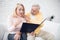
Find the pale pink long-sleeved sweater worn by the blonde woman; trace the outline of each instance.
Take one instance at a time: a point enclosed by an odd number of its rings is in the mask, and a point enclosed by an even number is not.
[[[9,32],[10,33],[16,33],[16,31],[20,31],[23,22],[26,22],[25,18],[11,17],[10,18],[10,26],[8,27]]]

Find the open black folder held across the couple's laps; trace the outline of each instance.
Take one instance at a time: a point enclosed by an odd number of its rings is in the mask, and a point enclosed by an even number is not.
[[[22,33],[30,33],[33,32],[37,27],[39,27],[46,19],[44,19],[40,24],[33,23],[23,23],[20,32]]]

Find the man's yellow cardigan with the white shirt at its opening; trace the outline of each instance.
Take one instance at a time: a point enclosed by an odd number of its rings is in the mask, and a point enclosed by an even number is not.
[[[43,16],[42,16],[42,14],[41,14],[40,12],[37,13],[36,15],[34,15],[34,17],[33,17],[33,15],[32,15],[31,13],[27,13],[26,16],[28,16],[28,17],[30,18],[30,22],[29,22],[29,23],[40,24],[41,21],[43,20]],[[42,26],[43,26],[43,24],[40,25],[40,26],[34,31],[34,33],[35,33],[35,34],[39,34]]]

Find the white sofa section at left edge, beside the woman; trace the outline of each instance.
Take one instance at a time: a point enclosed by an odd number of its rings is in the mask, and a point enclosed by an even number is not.
[[[7,26],[0,24],[0,40],[7,40]]]

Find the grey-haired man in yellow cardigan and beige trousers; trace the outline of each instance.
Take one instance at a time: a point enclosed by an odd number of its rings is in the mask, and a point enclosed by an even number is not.
[[[39,11],[39,5],[32,5],[31,12],[26,15],[29,17],[29,23],[40,24],[43,20],[42,13]],[[43,24],[41,24],[34,32],[27,34],[27,40],[35,40],[35,37],[41,37],[44,40],[54,40],[52,34],[41,30]]]

